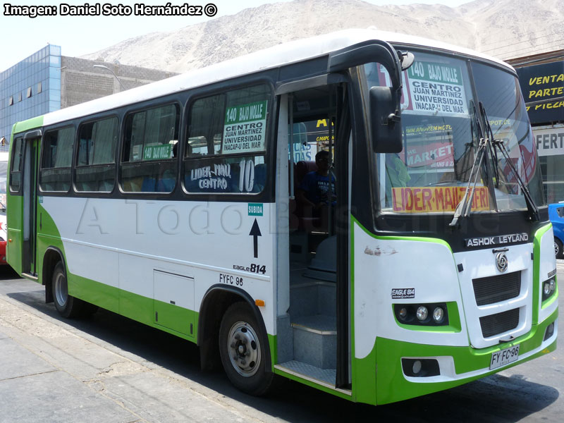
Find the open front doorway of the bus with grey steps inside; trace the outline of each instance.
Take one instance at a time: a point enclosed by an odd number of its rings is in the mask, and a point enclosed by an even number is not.
[[[348,83],[340,76],[331,79],[314,87],[301,85],[300,90],[288,84],[277,93],[281,189],[276,199],[280,236],[275,368],[350,392],[350,110]],[[311,128],[317,129],[312,133]],[[283,142],[286,137],[288,142]],[[317,160],[321,150],[324,154]],[[321,163],[329,188],[324,207],[313,210],[298,190],[305,175]]]

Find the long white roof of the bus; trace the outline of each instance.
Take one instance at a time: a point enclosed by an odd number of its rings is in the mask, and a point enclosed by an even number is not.
[[[275,47],[255,51],[245,56],[216,63],[206,68],[195,69],[176,75],[165,80],[152,82],[131,90],[118,92],[107,97],[92,100],[71,106],[66,109],[54,111],[44,116],[43,125],[51,125],[73,118],[88,116],[106,110],[115,109],[120,106],[142,102],[148,99],[164,96],[173,92],[188,90],[192,87],[207,85],[212,82],[248,75],[269,68],[277,68],[289,63],[299,62],[305,59],[324,56],[331,51],[343,49],[353,44],[369,41],[371,39],[382,39],[392,44],[412,45],[413,47],[429,47],[446,51],[455,51],[460,54],[474,56],[480,59],[494,61],[508,69],[513,69],[507,63],[498,59],[485,56],[470,49],[455,47],[431,39],[413,37],[410,35],[397,34],[394,32],[383,32],[376,30],[342,30],[331,32],[318,37],[299,39],[293,42],[278,44]],[[19,129],[19,128],[18,128]]]

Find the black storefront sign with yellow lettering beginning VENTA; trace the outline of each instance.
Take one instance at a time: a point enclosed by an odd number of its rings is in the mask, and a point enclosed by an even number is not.
[[[564,61],[517,68],[532,124],[564,121]]]

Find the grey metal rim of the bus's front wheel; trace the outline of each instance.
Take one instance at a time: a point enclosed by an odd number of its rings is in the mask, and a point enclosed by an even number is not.
[[[229,330],[228,354],[233,368],[241,376],[257,373],[260,364],[259,337],[245,321],[238,321]]]

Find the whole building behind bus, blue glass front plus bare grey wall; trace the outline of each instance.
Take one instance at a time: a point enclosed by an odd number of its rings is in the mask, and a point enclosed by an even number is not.
[[[61,56],[61,47],[48,44],[0,73],[0,151],[7,151],[18,121],[172,75],[176,73]]]

